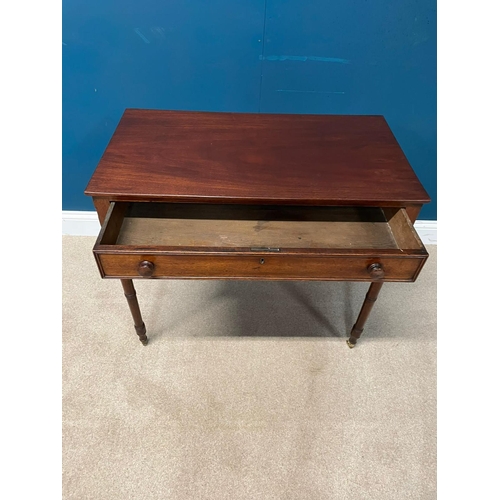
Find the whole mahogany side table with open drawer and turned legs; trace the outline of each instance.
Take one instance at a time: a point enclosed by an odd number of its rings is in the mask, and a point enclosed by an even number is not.
[[[125,110],[85,194],[103,278],[370,282],[354,347],[386,281],[428,254],[430,198],[382,116]]]

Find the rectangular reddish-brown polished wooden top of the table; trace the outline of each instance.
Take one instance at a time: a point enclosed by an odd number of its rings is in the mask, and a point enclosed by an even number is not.
[[[85,194],[298,205],[430,201],[382,116],[127,109]]]

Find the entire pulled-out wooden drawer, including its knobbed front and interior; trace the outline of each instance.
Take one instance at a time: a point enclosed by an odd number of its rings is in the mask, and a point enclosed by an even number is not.
[[[112,202],[103,278],[415,281],[427,252],[404,208]]]

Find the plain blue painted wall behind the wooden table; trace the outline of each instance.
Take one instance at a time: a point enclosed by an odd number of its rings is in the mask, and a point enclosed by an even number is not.
[[[382,114],[436,219],[435,0],[65,0],[63,209],[127,107]]]

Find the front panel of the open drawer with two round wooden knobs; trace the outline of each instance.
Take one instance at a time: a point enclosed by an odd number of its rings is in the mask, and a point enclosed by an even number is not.
[[[426,256],[100,254],[103,278],[415,281]],[[380,264],[378,273],[370,266]],[[373,273],[373,267],[372,267]]]

